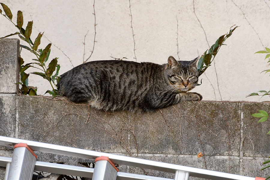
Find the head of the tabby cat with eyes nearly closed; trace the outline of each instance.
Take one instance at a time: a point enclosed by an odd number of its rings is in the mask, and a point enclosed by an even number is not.
[[[199,73],[197,59],[192,61],[176,61],[173,56],[168,58],[165,76],[169,81],[168,89],[173,92],[187,92],[198,85]]]

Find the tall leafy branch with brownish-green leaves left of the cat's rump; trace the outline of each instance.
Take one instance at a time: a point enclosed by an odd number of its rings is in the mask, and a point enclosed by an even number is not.
[[[22,11],[18,11],[17,13],[17,24],[12,21],[12,13],[10,9],[3,3],[0,3],[3,7],[5,14],[2,14],[2,10],[0,9],[0,14],[6,17],[13,25],[19,30],[19,32],[15,32],[13,34],[7,35],[3,38],[7,38],[13,35],[19,35],[19,38],[25,41],[29,46],[20,45],[22,48],[29,50],[33,54],[35,54],[36,58],[32,59],[33,62],[23,65],[24,61],[22,58],[19,59],[20,64],[20,81],[19,84],[22,85],[21,92],[22,94],[36,95],[36,88],[28,87],[28,76],[29,74],[25,73],[25,70],[29,67],[36,68],[41,72],[32,72],[32,74],[39,75],[44,79],[48,80],[50,85],[52,86],[52,91],[47,90],[46,93],[49,93],[53,96],[58,95],[58,90],[56,88],[56,84],[59,81],[58,71],[60,69],[60,65],[57,64],[58,58],[53,58],[48,67],[46,67],[45,63],[48,61],[49,54],[51,51],[51,44],[48,44],[45,49],[38,49],[38,46],[41,43],[41,37],[43,33],[39,33],[38,37],[35,39],[34,43],[32,42],[30,36],[32,33],[33,21],[29,21],[26,29],[22,28],[23,26],[23,15]],[[35,65],[35,66],[34,66]],[[36,67],[37,66],[37,67]],[[55,74],[53,75],[55,71]]]

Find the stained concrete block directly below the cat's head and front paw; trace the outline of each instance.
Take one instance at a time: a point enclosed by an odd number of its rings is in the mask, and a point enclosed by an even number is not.
[[[151,116],[131,116],[131,125],[134,126],[140,145],[138,150],[140,153],[197,155],[204,149],[205,155],[230,153],[237,156],[239,108],[240,103],[182,102],[162,112],[152,113]],[[147,132],[141,131],[144,127],[147,127]],[[132,148],[136,152],[136,147]]]

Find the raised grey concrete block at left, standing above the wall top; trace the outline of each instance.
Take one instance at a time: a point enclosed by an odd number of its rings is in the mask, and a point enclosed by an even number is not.
[[[18,39],[0,39],[0,93],[17,93],[19,44]]]

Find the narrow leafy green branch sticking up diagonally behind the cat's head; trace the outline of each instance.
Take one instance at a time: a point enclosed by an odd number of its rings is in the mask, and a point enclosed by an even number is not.
[[[235,25],[234,25],[235,26]],[[232,26],[233,27],[233,26]],[[231,28],[232,28],[231,27]],[[198,61],[198,65],[197,65],[197,70],[199,71],[199,76],[202,75],[202,73],[204,73],[204,71],[211,66],[211,62],[214,60],[215,56],[217,55],[217,52],[219,50],[219,48],[222,45],[226,45],[223,44],[224,41],[229,38],[232,35],[232,32],[237,28],[238,26],[235,26],[233,29],[230,29],[228,34],[222,35],[220,36],[217,41],[215,42],[215,44],[213,44],[211,46],[211,48],[208,50],[206,50],[203,55],[199,58]],[[208,51],[208,52],[207,52]]]

